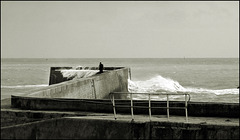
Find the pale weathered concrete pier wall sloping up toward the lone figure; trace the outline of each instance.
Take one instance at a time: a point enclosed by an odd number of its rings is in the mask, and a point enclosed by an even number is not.
[[[110,92],[128,91],[128,72],[129,68],[109,70],[88,78],[53,84],[27,93],[24,96],[37,98],[103,99],[107,98]],[[61,80],[58,79],[57,81]]]

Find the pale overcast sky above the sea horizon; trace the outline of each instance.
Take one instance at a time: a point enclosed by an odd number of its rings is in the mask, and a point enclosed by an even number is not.
[[[1,1],[1,58],[239,58],[239,1]]]

